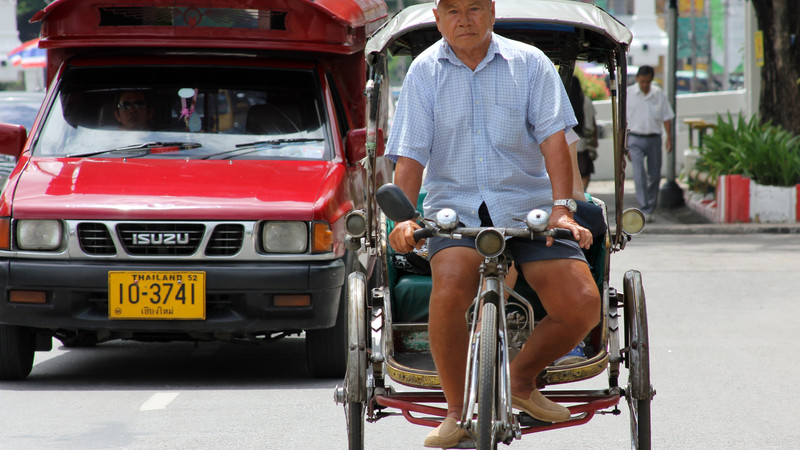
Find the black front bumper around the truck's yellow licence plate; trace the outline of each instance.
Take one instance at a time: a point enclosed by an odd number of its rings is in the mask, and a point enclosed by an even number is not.
[[[204,320],[119,320],[108,315],[109,271],[203,271]],[[0,260],[0,323],[39,329],[252,335],[330,328],[345,282],[343,260],[269,263],[130,263]],[[44,303],[10,293],[44,292]],[[276,306],[275,295],[309,295],[309,306]]]

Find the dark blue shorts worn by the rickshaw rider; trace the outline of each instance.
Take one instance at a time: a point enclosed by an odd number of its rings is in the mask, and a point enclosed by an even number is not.
[[[485,204],[481,205],[478,215],[480,216],[482,227],[493,226]],[[437,252],[449,247],[475,248],[475,238],[450,239],[439,236],[432,237],[428,239],[428,258],[432,259]],[[556,239],[553,245],[548,247],[547,241],[543,237],[535,239],[510,238],[506,240],[506,249],[511,252],[511,256],[517,264],[551,259],[577,259],[586,262],[586,256],[584,256],[580,245],[569,239]]]

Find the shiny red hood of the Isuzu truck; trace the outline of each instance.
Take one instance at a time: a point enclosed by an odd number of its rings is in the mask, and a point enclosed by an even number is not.
[[[330,161],[33,158],[19,174],[13,216],[326,219],[321,209],[330,209],[325,203],[331,194],[321,199],[320,192],[340,186],[343,172]]]

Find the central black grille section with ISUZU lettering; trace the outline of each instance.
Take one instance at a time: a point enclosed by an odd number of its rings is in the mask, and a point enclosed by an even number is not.
[[[117,235],[136,256],[187,256],[197,251],[205,225],[190,223],[120,223]]]

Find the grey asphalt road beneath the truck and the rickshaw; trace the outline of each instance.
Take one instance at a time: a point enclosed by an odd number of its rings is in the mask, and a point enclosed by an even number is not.
[[[627,269],[643,274],[654,448],[796,448],[795,236],[643,235],[612,257],[615,287]],[[0,383],[0,448],[343,449],[338,382],[309,376],[301,339],[86,349],[56,341],[37,354],[28,380]],[[567,387],[606,383],[602,374]],[[619,416],[528,435],[511,448],[629,448],[620,406]],[[367,448],[422,448],[427,432],[385,418],[366,425]]]

